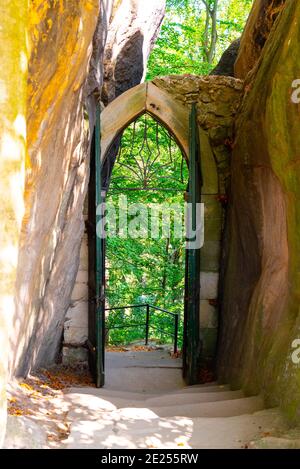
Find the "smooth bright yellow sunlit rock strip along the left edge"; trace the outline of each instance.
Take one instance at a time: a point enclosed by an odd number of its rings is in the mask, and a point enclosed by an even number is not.
[[[6,422],[8,329],[14,314],[26,157],[26,6],[1,2],[0,28],[0,447]]]

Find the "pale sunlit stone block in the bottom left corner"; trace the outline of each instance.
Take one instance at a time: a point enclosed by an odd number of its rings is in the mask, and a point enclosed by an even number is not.
[[[9,415],[4,448],[44,449],[47,445],[45,430],[27,417]]]

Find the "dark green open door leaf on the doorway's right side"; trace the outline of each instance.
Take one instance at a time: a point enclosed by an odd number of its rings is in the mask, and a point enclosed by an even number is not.
[[[188,225],[187,230],[185,299],[184,299],[184,341],[183,341],[183,377],[187,384],[199,382],[200,366],[200,246],[199,239],[199,205],[201,202],[201,161],[200,144],[197,124],[196,104],[192,105],[190,114],[190,145],[189,145],[189,186]],[[189,238],[193,233],[193,237]],[[192,233],[191,233],[192,232]]]

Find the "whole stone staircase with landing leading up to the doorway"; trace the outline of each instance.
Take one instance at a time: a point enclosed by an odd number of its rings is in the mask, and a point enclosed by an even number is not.
[[[106,386],[65,394],[63,448],[245,448],[285,425],[259,396],[217,383],[185,386],[166,351],[107,354]]]

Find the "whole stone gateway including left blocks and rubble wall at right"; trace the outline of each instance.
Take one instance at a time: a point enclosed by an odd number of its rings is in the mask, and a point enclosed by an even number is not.
[[[218,78],[217,84],[215,81],[210,83],[202,77],[193,76],[159,78],[123,93],[101,113],[102,159],[108,156],[114,141],[122,131],[144,113],[149,113],[171,131],[187,157],[189,112],[191,103],[197,102],[204,180],[202,201],[205,204],[205,244],[201,250],[199,280],[201,282],[200,318],[204,353],[209,358],[214,356],[217,340],[217,299],[224,219],[220,195],[223,193],[224,171],[225,174],[228,173],[229,162],[228,149],[223,142],[231,135],[232,115],[235,109],[232,107],[232,99],[234,97],[234,102],[237,102],[239,96],[236,84],[231,85],[228,92],[228,81],[224,78]],[[196,91],[193,91],[195,89]],[[88,264],[87,251],[87,238],[84,238],[81,265],[73,293],[75,308],[69,309],[65,324],[65,344],[68,347],[66,350],[69,353],[74,346],[76,357],[81,354],[78,345],[87,336],[87,285],[83,295],[83,283],[86,281],[83,278],[86,278]],[[78,300],[79,296],[83,298],[82,301]]]

